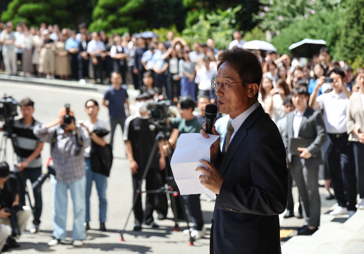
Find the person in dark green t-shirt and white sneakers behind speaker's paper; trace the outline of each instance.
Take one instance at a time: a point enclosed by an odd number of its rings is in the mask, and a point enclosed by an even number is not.
[[[177,102],[177,108],[180,111],[181,118],[170,118],[168,123],[172,129],[168,143],[170,147],[174,147],[177,138],[183,133],[199,133],[202,129],[198,119],[194,116],[193,109],[196,106],[194,100],[190,96],[181,96]],[[191,220],[195,224],[190,229],[184,231],[185,235],[198,240],[206,234],[206,228],[204,227],[204,219],[201,211],[200,194],[184,195],[183,196],[187,207],[189,209]]]

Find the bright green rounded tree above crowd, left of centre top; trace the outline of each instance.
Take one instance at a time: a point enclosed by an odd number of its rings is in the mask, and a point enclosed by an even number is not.
[[[134,18],[143,5],[144,0],[98,0],[92,12],[93,22],[89,30],[123,34],[144,29],[147,21]]]

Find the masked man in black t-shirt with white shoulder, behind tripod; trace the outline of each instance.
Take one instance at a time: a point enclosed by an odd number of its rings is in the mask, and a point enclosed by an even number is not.
[[[129,158],[129,166],[133,178],[133,195],[136,195],[138,182],[142,178],[150,152],[155,142],[157,129],[154,124],[149,122],[149,113],[146,101],[150,98],[147,93],[141,94],[135,98],[138,111],[125,121],[124,141],[126,152]],[[164,170],[166,167],[166,157],[163,152],[162,143],[158,144],[158,152],[156,151],[152,160],[152,164],[146,176],[146,190],[155,190],[155,176],[157,170]],[[158,158],[158,153],[160,154]],[[133,196],[134,198],[134,196]],[[158,225],[153,219],[153,210],[155,194],[147,194],[145,205],[145,224],[157,227]],[[138,196],[134,207],[135,225],[134,230],[141,230],[141,222],[143,222],[143,207],[141,206],[141,195]]]

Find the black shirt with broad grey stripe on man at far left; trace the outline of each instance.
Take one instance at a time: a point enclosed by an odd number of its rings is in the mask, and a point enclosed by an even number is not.
[[[38,143],[41,143],[34,134],[34,127],[40,124],[38,121],[33,119],[31,125],[25,125],[23,119],[16,120],[13,126],[13,133],[16,134],[16,142],[14,145],[15,152],[13,155],[14,165],[16,166],[19,162],[26,160],[37,148]],[[19,161],[20,160],[20,161]],[[35,169],[42,167],[42,158],[39,154],[31,163],[29,163],[27,169]]]

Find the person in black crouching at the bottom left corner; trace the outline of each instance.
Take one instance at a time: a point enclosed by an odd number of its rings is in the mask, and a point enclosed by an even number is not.
[[[9,225],[12,228],[12,235],[5,238],[5,226],[1,226],[0,229],[0,247],[4,246],[4,238],[6,240],[5,248],[19,247],[19,244],[15,241],[20,234],[23,233],[25,225],[31,214],[31,209],[28,206],[19,205],[19,193],[18,193],[18,180],[16,176],[10,174],[9,165],[7,163],[0,163],[0,223]],[[12,213],[15,212],[15,223],[11,223]],[[1,250],[1,249],[0,249]]]

